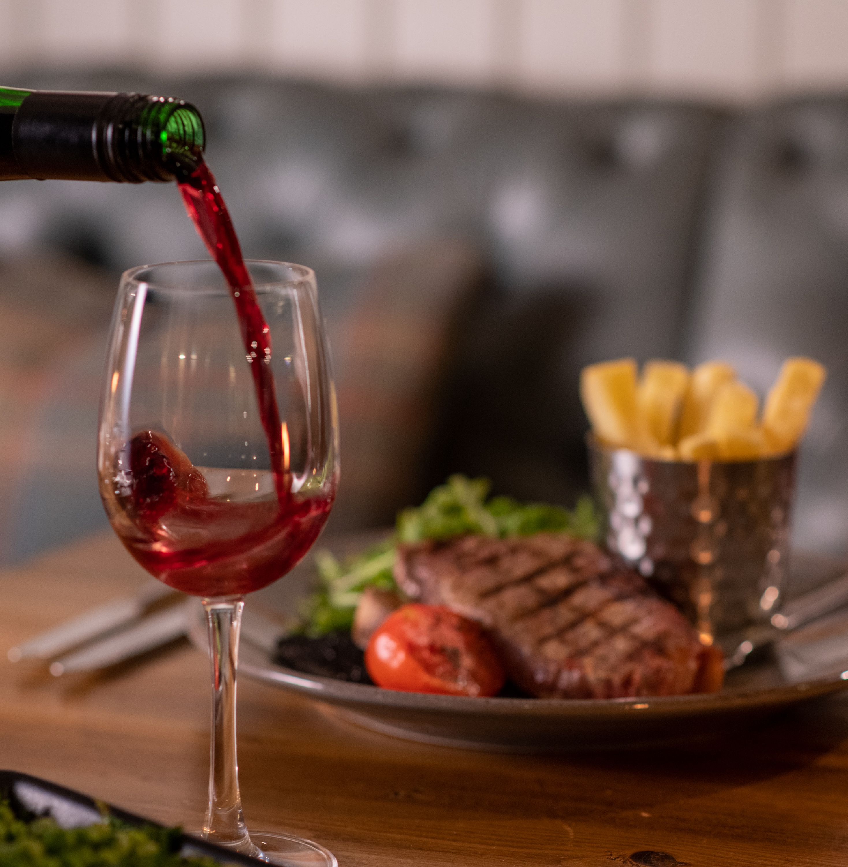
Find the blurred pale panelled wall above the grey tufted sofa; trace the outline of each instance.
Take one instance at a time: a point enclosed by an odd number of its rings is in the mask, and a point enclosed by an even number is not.
[[[0,0],[0,21],[0,71],[131,62],[722,100],[848,85],[848,0]]]

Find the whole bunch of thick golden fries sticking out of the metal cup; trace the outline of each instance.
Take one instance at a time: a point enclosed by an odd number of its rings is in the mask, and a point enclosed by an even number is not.
[[[580,400],[602,446],[656,460],[759,460],[798,447],[826,375],[811,358],[787,358],[760,409],[727,362],[689,370],[653,360],[639,375],[637,363],[622,358],[583,368]]]

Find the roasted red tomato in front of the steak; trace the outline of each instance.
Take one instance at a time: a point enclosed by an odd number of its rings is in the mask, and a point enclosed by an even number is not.
[[[441,605],[404,605],[371,636],[372,681],[407,693],[495,695],[506,679],[482,628]]]

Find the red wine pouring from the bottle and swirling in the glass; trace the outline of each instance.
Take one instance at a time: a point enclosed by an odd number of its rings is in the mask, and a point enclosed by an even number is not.
[[[291,490],[288,432],[277,407],[269,326],[209,167],[201,162],[179,181],[179,190],[235,302],[268,440],[275,497],[243,502],[212,497],[204,473],[172,440],[142,431],[129,443],[133,487],[120,505],[131,519],[115,529],[133,557],[172,587],[197,596],[243,594],[275,581],[306,554],[327,520],[333,492],[299,497]],[[239,472],[223,470],[227,482]]]

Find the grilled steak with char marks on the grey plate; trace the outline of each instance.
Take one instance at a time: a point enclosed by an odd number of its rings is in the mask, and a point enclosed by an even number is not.
[[[539,534],[399,545],[395,577],[407,596],[487,627],[529,694],[619,698],[721,686],[721,656],[591,542]]]

